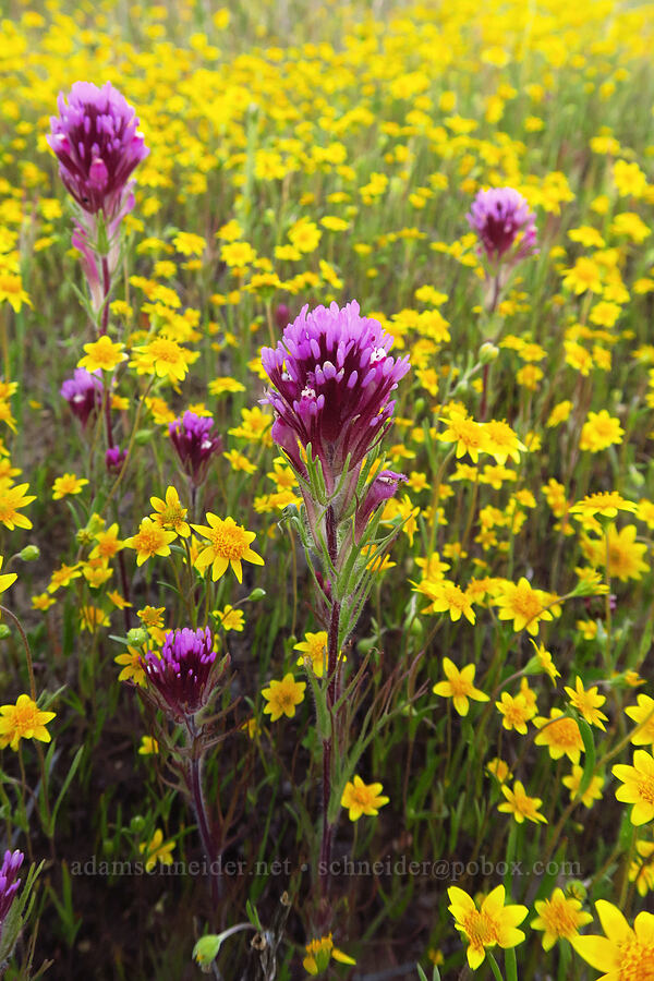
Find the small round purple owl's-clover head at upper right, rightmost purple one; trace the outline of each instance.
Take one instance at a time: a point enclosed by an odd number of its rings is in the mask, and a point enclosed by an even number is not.
[[[513,265],[537,251],[535,215],[513,187],[480,191],[465,217],[480,237],[480,253],[494,265]]]

